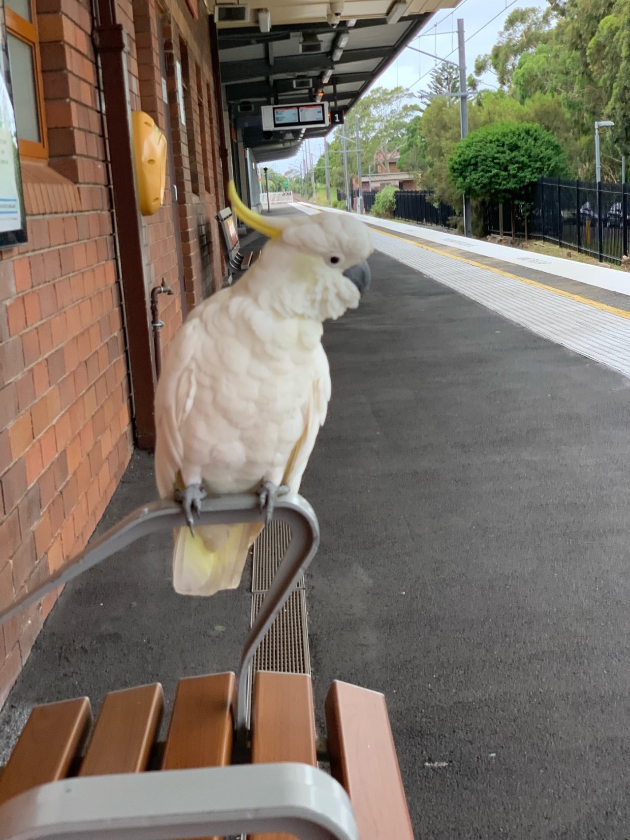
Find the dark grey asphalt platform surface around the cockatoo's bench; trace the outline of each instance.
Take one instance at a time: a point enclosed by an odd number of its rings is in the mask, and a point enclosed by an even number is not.
[[[448,258],[444,258],[448,259]],[[302,492],[313,678],[386,693],[417,837],[630,837],[630,382],[375,254],[328,324]],[[102,528],[155,497],[134,455]],[[66,587],[0,718],[234,669],[249,580],[208,601],[149,540]],[[369,838],[366,838],[369,840]],[[395,838],[392,837],[392,840]]]

